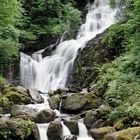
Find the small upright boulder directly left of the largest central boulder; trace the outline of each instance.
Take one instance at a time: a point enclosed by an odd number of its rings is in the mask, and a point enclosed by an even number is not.
[[[58,94],[51,96],[48,101],[51,109],[58,109],[61,102],[61,96]]]

